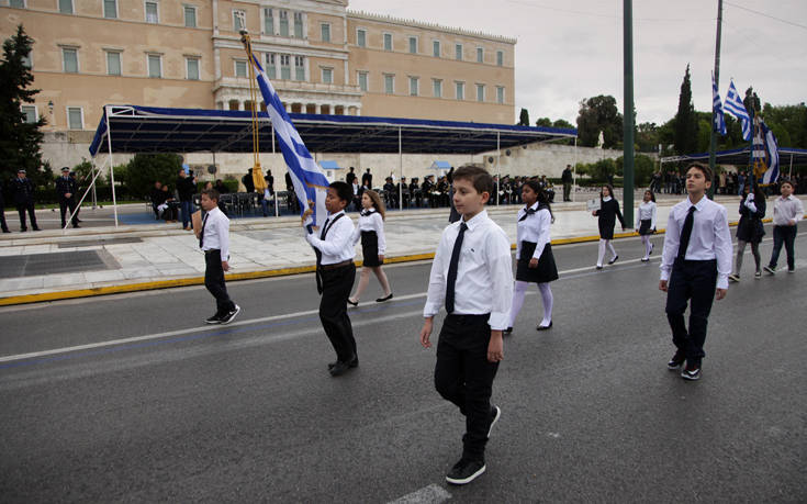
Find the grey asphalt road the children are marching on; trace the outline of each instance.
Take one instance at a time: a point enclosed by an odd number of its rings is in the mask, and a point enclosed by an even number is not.
[[[770,228],[762,246],[770,257]],[[361,366],[334,379],[311,275],[0,310],[2,502],[804,502],[807,233],[794,275],[716,302],[703,379],[672,355],[638,239],[593,268],[556,247],[551,331],[533,288],[494,383],[487,472],[445,482],[464,422],[417,343],[428,264],[386,269],[350,310]],[[369,301],[369,302],[367,302]],[[439,325],[439,324],[438,324]]]

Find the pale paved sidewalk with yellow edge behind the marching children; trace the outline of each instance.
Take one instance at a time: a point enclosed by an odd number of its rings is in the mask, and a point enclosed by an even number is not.
[[[680,200],[659,199],[660,229]],[[737,197],[718,197],[717,201],[728,206],[730,221],[737,219]],[[518,208],[489,209],[514,244]],[[585,210],[585,203],[557,203],[553,211],[552,243],[597,238],[596,219]],[[355,221],[358,214],[349,216]],[[234,220],[227,279],[312,271],[315,256],[299,223],[298,217]],[[448,209],[388,214],[389,261],[429,259],[447,224]],[[618,227],[616,231],[619,236]],[[203,283],[204,257],[198,240],[192,232],[176,225],[85,227],[64,233],[51,229],[2,238],[0,265],[5,266],[0,268],[0,305]],[[358,261],[360,244],[356,251]]]

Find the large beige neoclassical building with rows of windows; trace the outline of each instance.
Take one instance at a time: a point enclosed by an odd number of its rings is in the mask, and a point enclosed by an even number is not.
[[[514,38],[348,10],[347,0],[0,0],[0,34],[35,41],[46,131],[104,104],[246,110],[240,30],[290,112],[512,124]],[[257,104],[261,107],[261,104]]]

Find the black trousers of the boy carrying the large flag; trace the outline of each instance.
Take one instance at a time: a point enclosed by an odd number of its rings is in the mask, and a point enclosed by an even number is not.
[[[341,362],[350,362],[358,356],[354,326],[347,316],[347,298],[356,279],[356,265],[350,262],[336,269],[321,269],[322,299],[320,300],[320,321],[330,345],[336,350],[336,358]]]

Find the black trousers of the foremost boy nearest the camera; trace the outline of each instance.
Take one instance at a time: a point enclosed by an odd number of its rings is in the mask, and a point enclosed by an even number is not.
[[[484,461],[498,362],[487,361],[490,315],[448,315],[440,329],[435,388],[466,416],[462,457]]]

